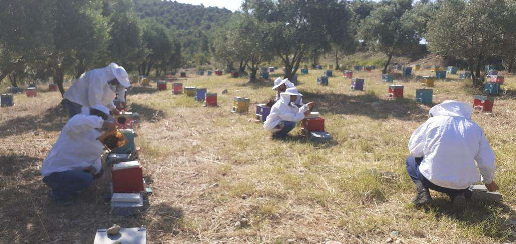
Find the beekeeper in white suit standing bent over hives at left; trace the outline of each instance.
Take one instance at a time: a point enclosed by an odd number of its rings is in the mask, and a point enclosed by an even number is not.
[[[102,104],[114,114],[120,114],[113,100],[125,102],[125,91],[129,87],[129,75],[122,66],[111,63],[104,68],[93,69],[75,80],[65,92],[65,107],[70,118],[80,113],[83,106]]]

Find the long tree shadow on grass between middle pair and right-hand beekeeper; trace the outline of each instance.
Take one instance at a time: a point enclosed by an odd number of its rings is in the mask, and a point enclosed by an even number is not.
[[[332,114],[364,115],[374,119],[394,117],[401,120],[427,119],[427,111],[413,99],[389,100],[375,94],[347,95],[301,91],[303,101],[314,101],[314,111]]]

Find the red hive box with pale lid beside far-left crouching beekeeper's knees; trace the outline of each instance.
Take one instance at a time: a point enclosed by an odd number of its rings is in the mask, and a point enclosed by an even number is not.
[[[143,172],[138,161],[111,166],[111,178],[115,193],[139,193],[143,190]]]

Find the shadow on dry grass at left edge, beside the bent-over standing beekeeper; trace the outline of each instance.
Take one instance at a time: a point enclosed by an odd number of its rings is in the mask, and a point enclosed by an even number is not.
[[[41,114],[15,117],[0,124],[0,137],[23,134],[38,129],[60,131],[67,121],[67,113],[61,104],[47,109]]]

